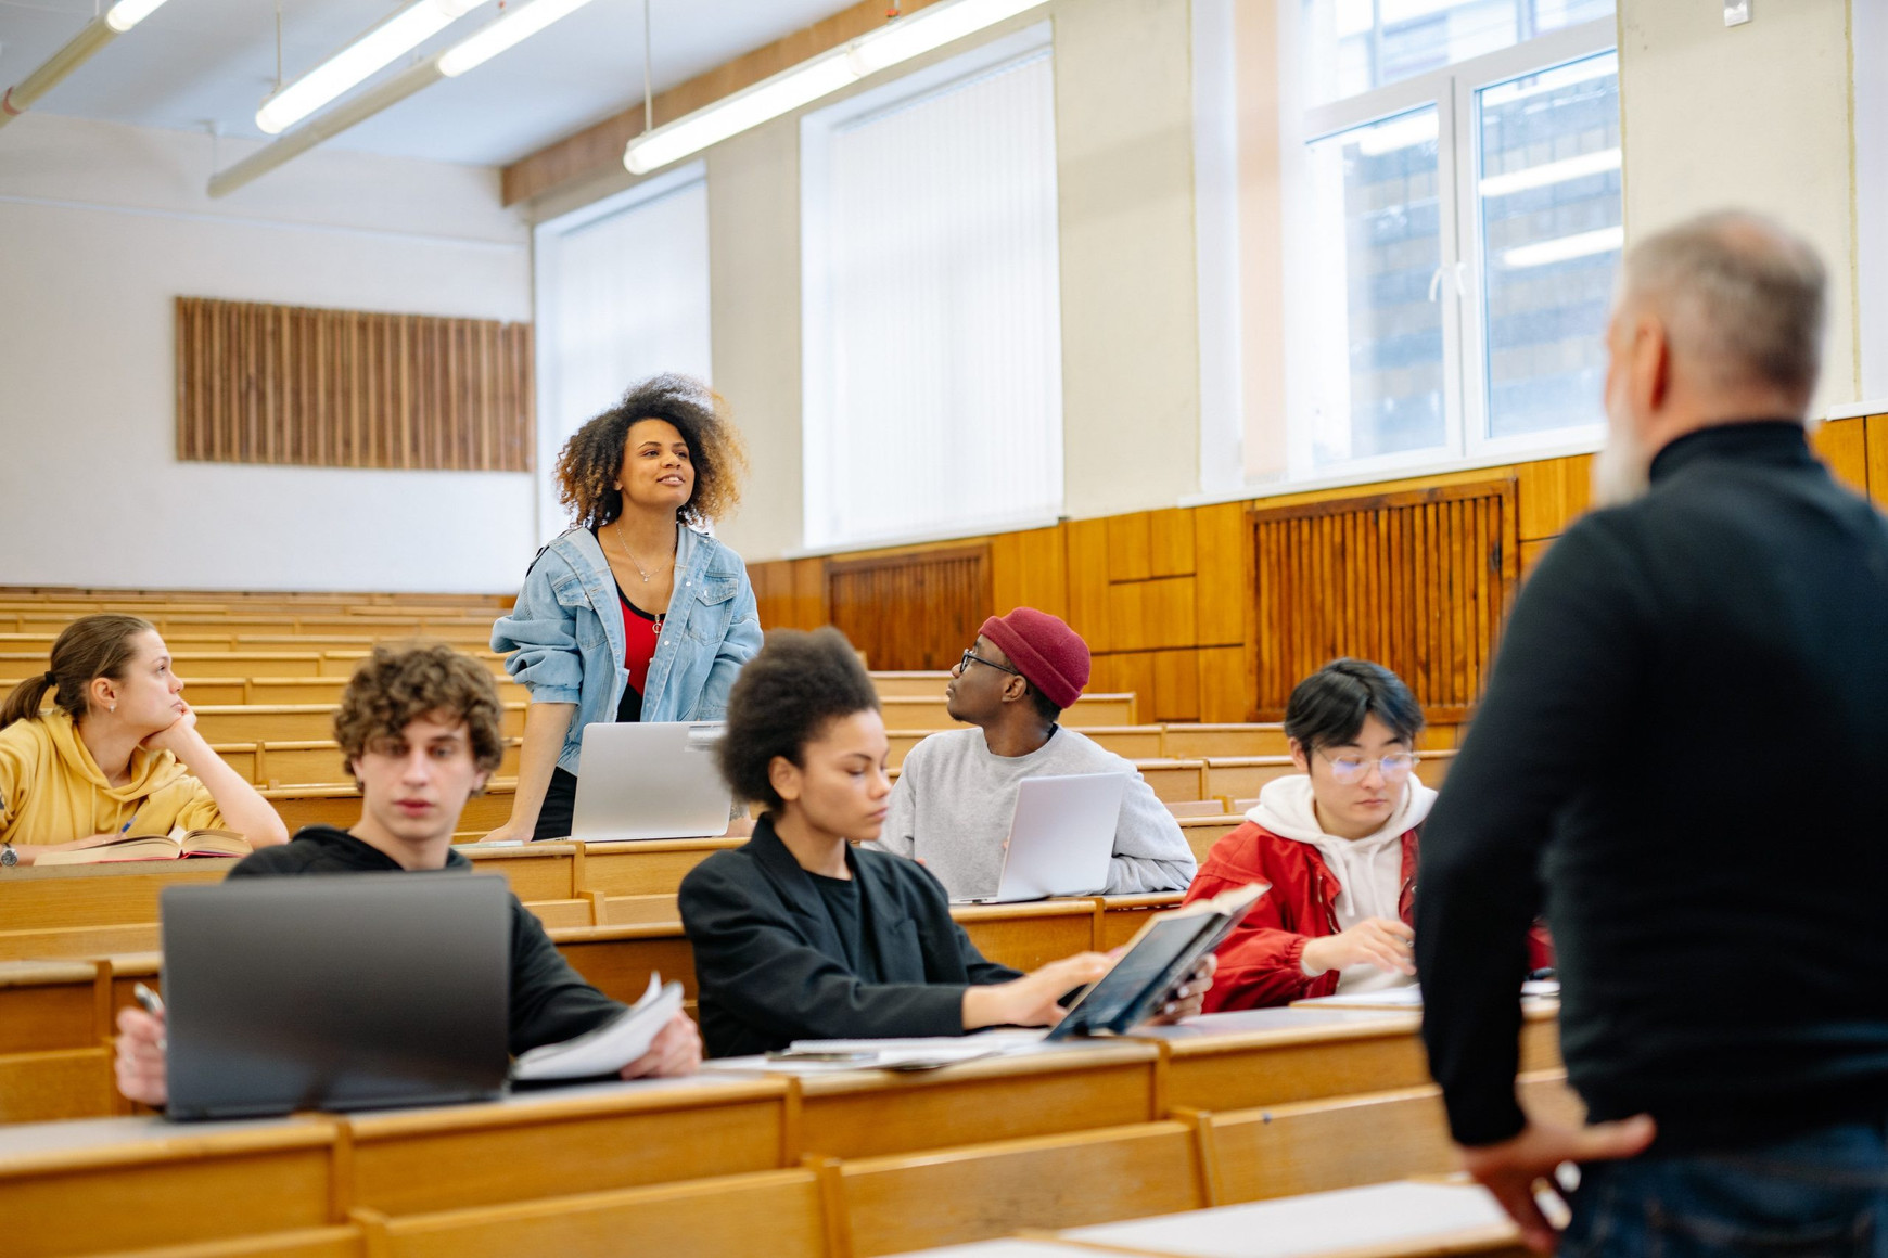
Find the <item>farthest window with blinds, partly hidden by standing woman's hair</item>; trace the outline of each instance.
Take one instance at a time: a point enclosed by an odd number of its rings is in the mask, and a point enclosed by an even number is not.
[[[708,183],[700,162],[536,230],[538,468],[659,372],[710,379]],[[563,532],[553,494],[546,536]]]

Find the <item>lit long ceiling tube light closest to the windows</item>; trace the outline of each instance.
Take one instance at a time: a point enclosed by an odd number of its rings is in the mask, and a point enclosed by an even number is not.
[[[542,0],[540,0],[542,2]],[[632,175],[700,153],[708,145],[791,113],[859,79],[940,49],[953,40],[1027,13],[1048,0],[936,0],[910,17],[850,40],[812,60],[644,132],[623,149]]]

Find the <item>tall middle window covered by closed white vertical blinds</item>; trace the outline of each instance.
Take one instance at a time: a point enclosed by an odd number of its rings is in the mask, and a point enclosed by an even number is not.
[[[802,119],[806,545],[1061,509],[1048,28]]]

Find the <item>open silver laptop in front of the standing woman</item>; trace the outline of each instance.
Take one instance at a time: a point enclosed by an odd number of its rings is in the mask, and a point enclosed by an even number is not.
[[[733,792],[716,766],[714,720],[583,726],[570,837],[704,839],[727,834]]]

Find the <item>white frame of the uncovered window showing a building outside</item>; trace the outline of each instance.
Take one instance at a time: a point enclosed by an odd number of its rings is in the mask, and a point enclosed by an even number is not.
[[[1284,47],[1295,49],[1297,45],[1286,40]],[[1437,300],[1442,302],[1446,421],[1442,445],[1318,464],[1312,451],[1306,368],[1291,366],[1306,362],[1310,356],[1288,353],[1284,415],[1286,473],[1278,481],[1267,481],[1263,485],[1265,492],[1297,492],[1320,483],[1371,483],[1599,449],[1605,441],[1605,422],[1597,415],[1592,424],[1544,428],[1505,438],[1492,436],[1488,430],[1488,328],[1482,207],[1478,196],[1478,100],[1482,89],[1586,60],[1588,57],[1614,53],[1616,47],[1616,21],[1595,19],[1550,30],[1524,43],[1297,113],[1295,134],[1290,134],[1282,145],[1282,155],[1290,164],[1284,221],[1291,234],[1303,232],[1303,224],[1310,215],[1308,179],[1303,175],[1303,160],[1312,143],[1342,136],[1359,126],[1382,123],[1401,113],[1425,108],[1437,111],[1441,262],[1433,279],[1433,290],[1437,292]],[[1316,279],[1306,275],[1305,268],[1290,275],[1288,302],[1291,307],[1306,304],[1306,285],[1310,283],[1316,283]],[[1308,339],[1308,336],[1310,330],[1299,332],[1301,339]],[[1293,383],[1290,375],[1299,375],[1301,379]],[[1259,487],[1248,485],[1246,488]]]

